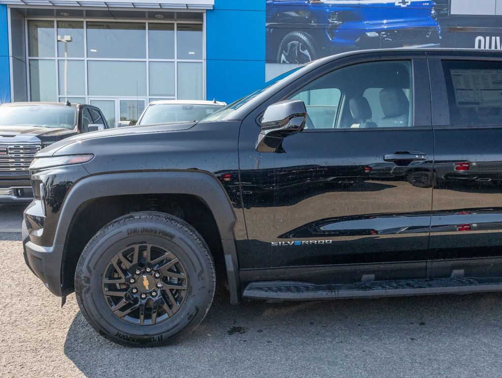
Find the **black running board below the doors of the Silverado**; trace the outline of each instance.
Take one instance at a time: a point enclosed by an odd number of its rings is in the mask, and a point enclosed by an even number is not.
[[[502,291],[502,277],[365,281],[354,284],[331,285],[315,285],[296,281],[264,281],[248,284],[244,289],[242,297],[306,301],[316,299],[470,294],[496,291]]]

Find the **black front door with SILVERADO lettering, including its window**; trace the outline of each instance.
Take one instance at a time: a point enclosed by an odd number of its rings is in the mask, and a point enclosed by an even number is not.
[[[240,181],[255,268],[376,263],[379,271],[379,263],[424,262],[414,277],[425,277],[433,133],[413,126],[413,105],[399,106],[398,97],[413,104],[414,96],[389,67],[342,69],[292,93],[310,119],[284,138],[285,153],[257,152],[260,128],[244,120]],[[305,93],[327,83],[339,92]]]

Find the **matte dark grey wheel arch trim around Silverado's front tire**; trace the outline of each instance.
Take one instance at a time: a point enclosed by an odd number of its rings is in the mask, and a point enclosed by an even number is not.
[[[109,196],[155,193],[193,195],[212,211],[221,236],[230,300],[232,303],[238,303],[240,285],[233,235],[236,217],[221,183],[207,172],[127,172],[86,177],[75,183],[64,200],[56,228],[54,245],[66,244],[66,237],[74,214],[83,203]]]

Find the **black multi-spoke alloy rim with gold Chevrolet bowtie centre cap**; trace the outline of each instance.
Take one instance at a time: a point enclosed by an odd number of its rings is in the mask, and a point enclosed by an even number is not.
[[[111,259],[103,276],[103,296],[118,318],[152,325],[180,309],[188,285],[185,268],[172,251],[139,243]]]

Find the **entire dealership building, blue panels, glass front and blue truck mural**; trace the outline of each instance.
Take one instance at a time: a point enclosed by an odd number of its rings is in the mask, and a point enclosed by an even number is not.
[[[383,20],[354,22],[359,8]],[[412,10],[418,26],[393,27]],[[315,18],[322,12],[325,21]],[[307,61],[327,55],[345,27],[359,37],[344,37],[344,50],[361,36],[375,47],[500,50],[502,0],[0,0],[0,103],[86,102],[115,125],[155,99],[230,102],[297,65],[278,49],[305,51]]]

